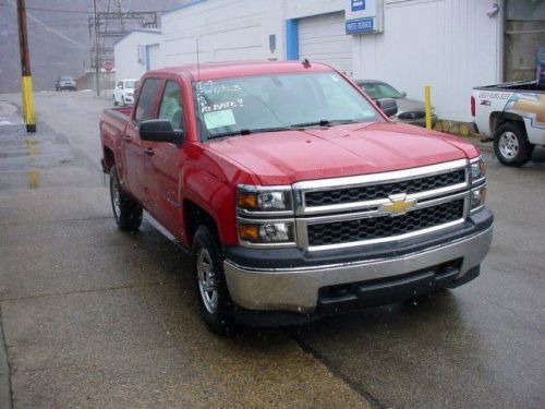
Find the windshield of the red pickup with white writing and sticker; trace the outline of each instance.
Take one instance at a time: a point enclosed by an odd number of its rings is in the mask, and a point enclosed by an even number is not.
[[[201,81],[195,105],[203,140],[383,120],[335,72]]]

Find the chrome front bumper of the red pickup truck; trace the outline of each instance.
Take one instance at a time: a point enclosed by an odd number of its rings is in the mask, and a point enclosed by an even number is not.
[[[488,253],[493,227],[400,257],[301,268],[249,269],[223,263],[227,286],[240,306],[257,311],[313,313],[323,287],[400,276],[462,258],[458,279]]]

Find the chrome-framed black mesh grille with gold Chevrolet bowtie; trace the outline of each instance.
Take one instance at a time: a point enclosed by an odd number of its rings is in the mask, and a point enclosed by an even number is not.
[[[293,185],[298,246],[310,251],[424,236],[469,215],[469,161]]]

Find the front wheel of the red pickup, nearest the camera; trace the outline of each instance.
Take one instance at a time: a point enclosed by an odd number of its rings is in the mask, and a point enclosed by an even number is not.
[[[234,329],[232,301],[227,289],[218,239],[208,227],[201,226],[195,232],[192,254],[203,321],[211,333],[228,335]],[[207,291],[208,288],[210,291]]]

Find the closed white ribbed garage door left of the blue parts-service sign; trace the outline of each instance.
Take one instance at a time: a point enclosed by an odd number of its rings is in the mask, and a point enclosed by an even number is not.
[[[352,36],[344,34],[344,12],[300,19],[299,57],[352,74]]]

